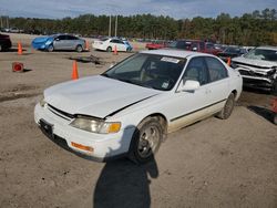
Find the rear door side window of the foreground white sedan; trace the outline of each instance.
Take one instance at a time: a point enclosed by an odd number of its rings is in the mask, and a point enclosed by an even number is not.
[[[215,58],[205,58],[211,82],[222,80],[228,76],[225,66]]]

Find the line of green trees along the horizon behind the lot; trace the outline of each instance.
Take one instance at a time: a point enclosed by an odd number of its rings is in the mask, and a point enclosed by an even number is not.
[[[114,19],[112,17],[112,34]],[[171,17],[136,14],[117,15],[117,35],[141,39],[202,39],[223,44],[239,45],[277,45],[277,11],[265,9],[232,18],[220,13],[216,18],[195,17],[193,19],[175,20]],[[11,18],[10,25],[23,29],[30,33],[66,32],[91,35],[107,35],[109,15],[82,14],[76,18],[35,19]]]

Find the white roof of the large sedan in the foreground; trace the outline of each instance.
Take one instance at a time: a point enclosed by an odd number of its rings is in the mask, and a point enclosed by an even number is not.
[[[199,53],[199,52],[177,50],[177,49],[148,50],[148,51],[141,51],[140,53],[167,55],[167,56],[175,56],[175,58],[214,56],[214,55],[207,54],[207,53]]]

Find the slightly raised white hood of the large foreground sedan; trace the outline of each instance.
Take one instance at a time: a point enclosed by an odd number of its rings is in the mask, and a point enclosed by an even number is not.
[[[156,90],[96,75],[47,89],[44,100],[53,107],[73,115],[104,118],[158,93]]]

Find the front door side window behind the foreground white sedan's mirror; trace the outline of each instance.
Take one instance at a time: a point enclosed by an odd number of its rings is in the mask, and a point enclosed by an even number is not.
[[[193,58],[184,73],[184,80],[198,81],[201,85],[208,82],[208,73],[204,58]]]

